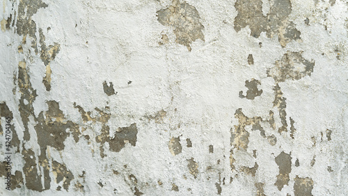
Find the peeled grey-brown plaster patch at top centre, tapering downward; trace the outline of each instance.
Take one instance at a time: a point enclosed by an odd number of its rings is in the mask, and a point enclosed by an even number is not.
[[[204,41],[203,25],[195,7],[185,1],[173,0],[169,8],[157,11],[159,23],[174,28],[175,42],[187,47],[191,51],[190,44],[196,39]]]

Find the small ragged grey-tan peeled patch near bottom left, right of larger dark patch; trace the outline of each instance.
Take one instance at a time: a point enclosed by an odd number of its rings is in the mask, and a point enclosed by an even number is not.
[[[68,191],[70,181],[74,179],[72,172],[64,164],[58,163],[56,160],[52,162],[52,172],[56,174],[56,183],[63,181],[63,188]]]

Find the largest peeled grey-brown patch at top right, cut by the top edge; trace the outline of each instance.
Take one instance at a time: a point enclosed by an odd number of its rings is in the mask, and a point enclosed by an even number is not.
[[[300,39],[301,32],[289,20],[292,11],[290,0],[274,0],[267,16],[262,14],[262,0],[237,0],[235,8],[238,12],[235,17],[237,32],[248,26],[255,38],[260,37],[262,32],[266,32],[269,38],[277,35],[282,47],[291,40]]]

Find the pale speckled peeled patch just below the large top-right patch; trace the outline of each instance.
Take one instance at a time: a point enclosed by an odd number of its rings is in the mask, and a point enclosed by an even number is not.
[[[304,59],[303,51],[287,51],[282,59],[276,61],[275,66],[267,70],[267,76],[273,77],[276,82],[285,82],[285,80],[300,80],[306,75],[313,73],[315,61]]]

